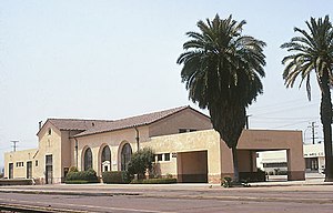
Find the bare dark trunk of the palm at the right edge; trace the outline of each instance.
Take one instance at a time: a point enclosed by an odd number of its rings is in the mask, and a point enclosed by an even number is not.
[[[329,74],[324,72],[322,77],[322,101],[321,101],[321,121],[324,132],[325,149],[325,181],[333,182],[333,158],[332,158],[332,100],[329,87]]]

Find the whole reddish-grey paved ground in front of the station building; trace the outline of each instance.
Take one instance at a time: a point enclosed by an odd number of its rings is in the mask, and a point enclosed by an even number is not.
[[[250,187],[236,186],[225,189],[220,184],[53,184],[53,185],[17,185],[17,186],[0,186],[0,204],[18,205],[23,204],[33,205],[31,197],[53,202],[51,197],[63,200],[59,206],[77,206],[74,202],[85,203],[92,202],[89,206],[97,206],[98,209],[105,209],[109,202],[117,202],[118,209],[111,212],[121,212],[120,210],[129,210],[123,206],[123,201],[131,201],[137,203],[138,210],[148,210],[147,206],[141,206],[140,203],[148,201],[159,201],[153,211],[164,210],[165,202],[174,203],[182,201],[188,204],[188,209],[196,206],[199,203],[203,205],[209,202],[221,206],[225,203],[240,204],[243,203],[248,207],[255,210],[255,206],[275,206],[276,212],[282,211],[279,205],[287,205],[291,210],[302,210],[306,212],[303,205],[312,205],[316,207],[316,212],[327,212],[333,209],[333,183],[324,182],[323,176],[307,176],[305,181],[286,181],[285,176],[273,176],[268,182],[251,183]],[[20,197],[20,199],[9,199]],[[68,200],[68,197],[72,197]],[[74,200],[74,199],[78,199]],[[87,199],[84,199],[87,197]],[[110,200],[110,197],[112,197]],[[50,200],[51,199],[51,200]],[[73,203],[69,203],[73,202]],[[99,201],[101,204],[97,204]],[[83,202],[83,203],[84,203]],[[208,203],[206,203],[208,202]],[[222,202],[222,203],[221,203]],[[95,205],[94,205],[95,204]],[[82,203],[79,206],[85,206]],[[0,206],[1,209],[1,206]],[[93,209],[93,207],[92,207]],[[171,210],[172,207],[170,207]],[[149,210],[149,211],[152,211]],[[185,210],[173,209],[174,212],[185,212]],[[266,210],[266,209],[265,209]],[[278,211],[279,210],[279,211]],[[321,211],[319,211],[321,210]],[[134,212],[135,212],[134,211]],[[137,212],[138,212],[137,211]],[[212,210],[213,211],[213,210]],[[262,210],[264,212],[264,210]],[[91,211],[89,211],[91,212]],[[108,211],[107,211],[108,212]],[[127,211],[124,211],[127,212]],[[219,212],[219,211],[218,211]],[[330,211],[329,211],[330,212]]]

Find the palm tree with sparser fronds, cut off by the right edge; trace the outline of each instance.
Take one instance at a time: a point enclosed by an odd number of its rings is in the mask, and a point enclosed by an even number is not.
[[[332,159],[332,70],[333,70],[333,29],[329,16],[317,20],[311,18],[305,22],[310,32],[300,28],[294,31],[301,36],[294,37],[290,42],[281,45],[292,52],[282,60],[285,64],[283,79],[285,85],[293,87],[300,78],[300,87],[305,81],[307,98],[311,100],[311,73],[314,72],[321,89],[321,121],[324,131],[325,148],[325,181],[333,181]]]

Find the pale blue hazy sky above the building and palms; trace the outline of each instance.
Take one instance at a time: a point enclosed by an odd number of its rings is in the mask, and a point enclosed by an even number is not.
[[[320,125],[319,90],[313,87],[307,102],[304,88],[285,89],[280,45],[295,36],[294,27],[332,11],[330,0],[0,0],[0,165],[11,140],[20,141],[19,150],[36,148],[38,122],[48,118],[118,119],[196,108],[175,60],[184,33],[215,13],[246,20],[243,33],[268,43],[264,94],[249,109],[251,128]]]

